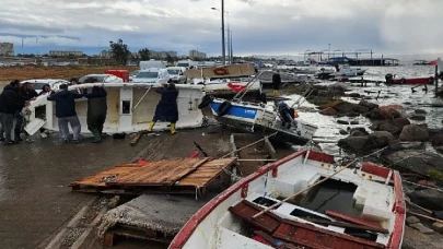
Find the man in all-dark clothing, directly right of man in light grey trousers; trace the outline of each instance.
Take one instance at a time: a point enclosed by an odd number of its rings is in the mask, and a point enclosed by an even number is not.
[[[96,79],[86,79],[84,83],[95,83]],[[107,103],[106,90],[93,86],[92,92],[85,92],[88,98],[88,130],[94,135],[93,143],[102,142],[103,124],[106,120]]]

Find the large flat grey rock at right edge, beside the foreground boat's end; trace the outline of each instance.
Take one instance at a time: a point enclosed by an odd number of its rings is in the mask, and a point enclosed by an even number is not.
[[[404,150],[384,155],[386,165],[429,176],[432,179],[443,181],[443,156],[436,153]]]

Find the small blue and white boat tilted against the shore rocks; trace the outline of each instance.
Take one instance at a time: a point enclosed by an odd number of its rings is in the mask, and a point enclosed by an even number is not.
[[[293,144],[304,145],[318,129],[317,126],[294,118],[294,110],[283,102],[272,106],[213,98],[209,105],[214,118],[226,126],[264,134],[277,132],[277,139]]]

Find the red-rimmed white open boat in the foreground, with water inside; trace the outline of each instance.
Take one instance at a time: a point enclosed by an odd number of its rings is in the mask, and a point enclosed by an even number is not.
[[[398,249],[404,228],[398,171],[371,163],[339,166],[330,155],[303,150],[212,199],[170,248]]]

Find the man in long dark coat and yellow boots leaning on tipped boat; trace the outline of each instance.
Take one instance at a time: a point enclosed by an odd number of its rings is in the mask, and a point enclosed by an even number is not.
[[[168,121],[171,122],[171,133],[175,134],[175,123],[178,120],[178,106],[177,97],[178,90],[175,88],[174,83],[163,84],[163,87],[155,90],[155,92],[162,95],[159,104],[155,108],[155,115],[152,121],[149,123],[148,131],[152,131],[156,121]]]

